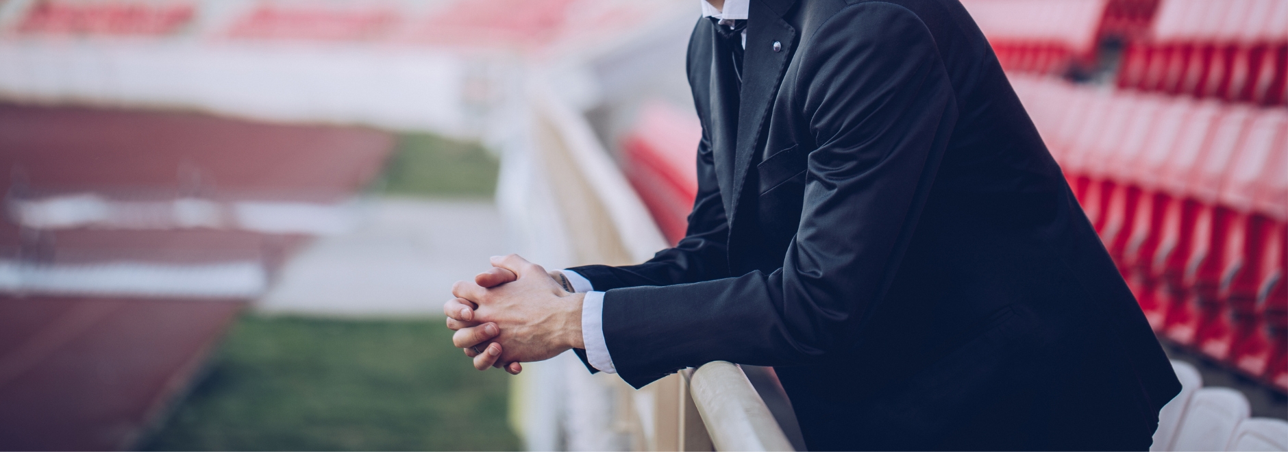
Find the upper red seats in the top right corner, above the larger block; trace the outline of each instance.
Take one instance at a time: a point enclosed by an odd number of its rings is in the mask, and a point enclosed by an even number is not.
[[[1288,103],[1285,0],[963,0],[1009,72],[1092,68],[1126,44],[1124,89]]]

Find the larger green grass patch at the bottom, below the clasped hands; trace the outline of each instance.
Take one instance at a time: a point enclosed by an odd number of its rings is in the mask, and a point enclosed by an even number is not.
[[[143,448],[516,449],[509,375],[475,371],[450,337],[437,319],[245,315]]]

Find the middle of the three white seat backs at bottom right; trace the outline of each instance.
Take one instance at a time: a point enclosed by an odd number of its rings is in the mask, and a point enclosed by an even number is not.
[[[1243,393],[1230,388],[1199,389],[1185,408],[1172,451],[1225,449],[1248,413],[1248,399]]]

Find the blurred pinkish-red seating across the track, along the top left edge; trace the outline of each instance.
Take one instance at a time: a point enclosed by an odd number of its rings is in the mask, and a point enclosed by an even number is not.
[[[457,46],[519,46],[547,44],[571,28],[598,24],[621,27],[648,18],[627,1],[576,0],[402,0],[367,3],[245,3],[231,19],[196,30],[194,18],[206,9],[223,9],[219,0],[37,0],[27,6],[13,32],[22,36],[173,37],[207,33],[216,40],[411,42]],[[656,6],[656,5],[654,5]],[[649,9],[654,6],[644,6]],[[496,12],[506,12],[497,15]],[[581,17],[590,14],[591,17]],[[577,15],[573,18],[572,15]],[[608,18],[612,18],[611,21]],[[569,27],[576,19],[577,27]],[[625,22],[623,22],[625,21]],[[585,24],[589,22],[590,24]]]

